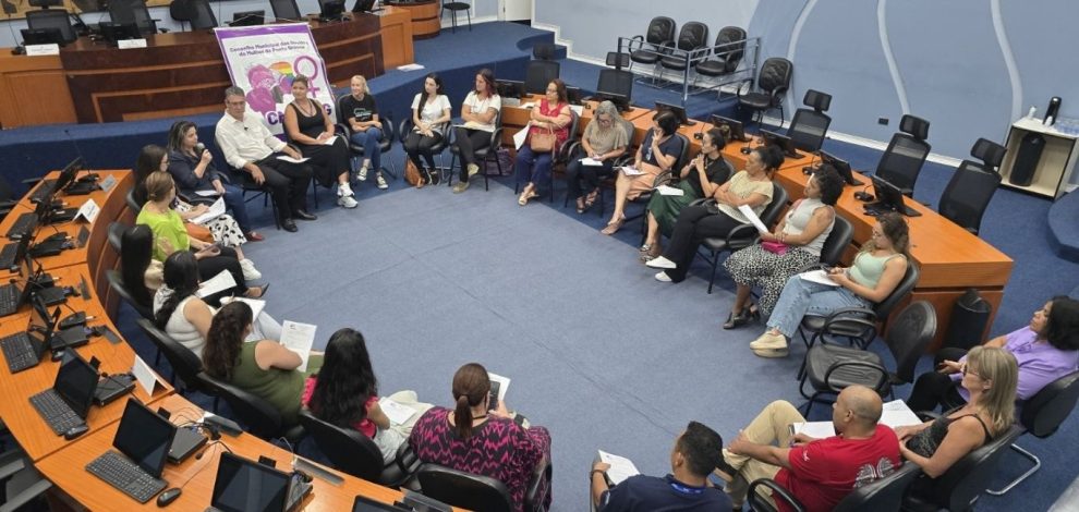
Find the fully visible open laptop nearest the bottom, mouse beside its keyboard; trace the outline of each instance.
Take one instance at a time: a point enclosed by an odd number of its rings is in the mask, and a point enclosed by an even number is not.
[[[86,464],[89,474],[140,503],[149,501],[168,483],[161,479],[177,426],[142,402],[129,399],[112,438],[112,448]]]

